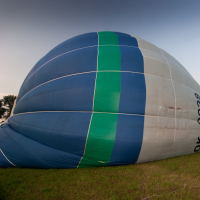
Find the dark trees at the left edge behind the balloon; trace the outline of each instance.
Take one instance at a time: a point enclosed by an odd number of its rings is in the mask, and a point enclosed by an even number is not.
[[[0,99],[0,118],[7,119],[10,116],[15,99],[14,95],[4,96],[3,99]]]

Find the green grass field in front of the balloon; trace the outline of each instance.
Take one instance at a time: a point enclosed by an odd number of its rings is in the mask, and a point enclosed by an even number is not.
[[[82,169],[0,168],[4,199],[200,199],[200,153]],[[187,184],[184,188],[184,184]],[[184,188],[184,189],[182,189]],[[176,191],[177,190],[177,191]],[[175,192],[173,192],[175,191]]]

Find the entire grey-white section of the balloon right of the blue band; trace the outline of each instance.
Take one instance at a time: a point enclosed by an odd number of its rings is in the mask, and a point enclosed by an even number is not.
[[[200,137],[200,97],[199,107],[195,97],[195,93],[200,95],[199,84],[166,51],[137,40],[146,82],[143,143],[137,163],[194,153]]]

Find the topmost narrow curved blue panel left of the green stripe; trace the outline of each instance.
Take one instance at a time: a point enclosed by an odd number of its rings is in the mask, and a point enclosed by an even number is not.
[[[60,54],[66,53],[68,51],[94,45],[98,45],[97,32],[78,35],[76,37],[73,37],[71,39],[62,42],[61,44],[53,48],[51,51],[49,51],[39,62],[36,63],[36,65],[27,75],[26,79],[24,80],[24,83],[31,76],[32,73],[34,73],[41,65],[51,60],[52,58]]]

